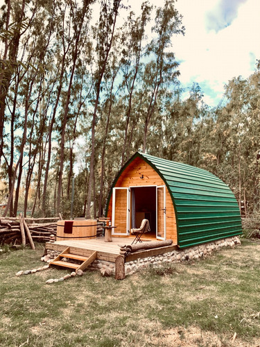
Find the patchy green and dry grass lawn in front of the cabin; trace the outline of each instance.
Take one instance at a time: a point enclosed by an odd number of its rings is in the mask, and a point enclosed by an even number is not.
[[[43,266],[43,246],[0,255],[0,346],[260,346],[260,242],[119,281]]]

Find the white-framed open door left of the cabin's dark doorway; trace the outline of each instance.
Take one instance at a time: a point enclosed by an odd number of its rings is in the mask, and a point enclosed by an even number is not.
[[[112,198],[112,235],[129,235],[129,194],[128,187],[113,188]]]

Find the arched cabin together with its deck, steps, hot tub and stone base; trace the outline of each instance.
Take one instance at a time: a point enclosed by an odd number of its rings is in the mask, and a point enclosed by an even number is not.
[[[125,278],[162,262],[199,259],[240,243],[239,205],[229,187],[206,170],[135,153],[116,176],[107,197],[105,238],[96,220],[58,221],[46,243],[51,266],[99,269]],[[148,219],[150,231],[135,244],[131,229]],[[112,232],[112,235],[111,235]],[[152,241],[152,242],[151,242]],[[68,262],[68,259],[71,261]],[[78,262],[75,264],[74,262]]]

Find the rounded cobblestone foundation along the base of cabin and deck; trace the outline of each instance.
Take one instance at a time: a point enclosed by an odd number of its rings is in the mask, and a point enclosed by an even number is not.
[[[149,266],[162,266],[162,264],[171,262],[185,262],[187,260],[198,260],[203,257],[207,257],[212,253],[223,247],[233,247],[241,244],[238,236],[229,237],[227,239],[220,239],[215,242],[209,242],[208,244],[200,244],[198,246],[192,246],[189,248],[183,248],[176,251],[164,253],[161,255],[154,255],[152,257],[139,258],[132,262],[125,262],[125,274],[130,275],[135,273],[139,269],[148,268]],[[59,255],[60,252],[46,250],[47,255],[51,259]],[[114,262],[107,262],[105,260],[94,260],[88,267],[90,270],[99,270],[101,273],[110,273],[114,275],[115,266]]]

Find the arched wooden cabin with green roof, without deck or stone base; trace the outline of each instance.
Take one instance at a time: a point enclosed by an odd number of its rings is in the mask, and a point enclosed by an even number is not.
[[[180,248],[242,233],[236,198],[220,178],[188,164],[135,153],[116,176],[106,217],[114,237],[131,237],[142,219],[149,239],[172,239]]]

